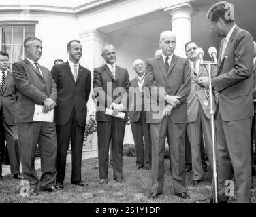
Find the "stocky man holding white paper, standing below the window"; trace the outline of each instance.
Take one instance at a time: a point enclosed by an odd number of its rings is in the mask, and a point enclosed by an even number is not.
[[[28,37],[24,41],[25,59],[12,64],[12,75],[18,89],[15,120],[18,125],[18,144],[21,151],[22,174],[30,183],[30,195],[41,191],[55,192],[55,161],[57,140],[55,123],[33,121],[35,105],[43,112],[54,109],[57,99],[56,85],[50,71],[38,64],[42,55],[42,41]],[[42,176],[40,182],[35,170],[35,150],[39,144]]]

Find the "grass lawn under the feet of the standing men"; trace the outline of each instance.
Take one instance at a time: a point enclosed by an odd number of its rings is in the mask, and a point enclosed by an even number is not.
[[[82,180],[89,184],[88,188],[70,184],[71,164],[67,164],[65,191],[59,193],[40,192],[37,197],[22,197],[20,181],[5,176],[0,182],[0,203],[193,203],[196,199],[208,197],[210,192],[211,174],[205,173],[204,182],[191,187],[192,172],[186,174],[187,193],[191,199],[180,199],[174,196],[169,170],[169,161],[165,161],[165,182],[163,194],[155,200],[148,199],[150,193],[150,172],[146,170],[133,171],[135,157],[123,157],[123,178],[125,183],[117,184],[113,180],[113,170],[109,167],[109,182],[100,185],[97,158],[82,161]],[[40,171],[37,172],[40,176]],[[256,203],[256,178],[253,179],[253,203]],[[230,203],[234,202],[234,198]]]

